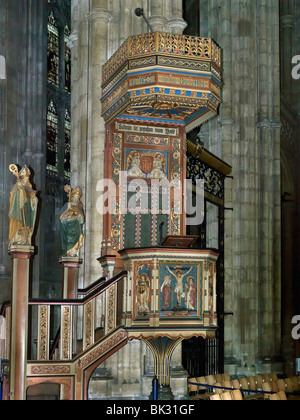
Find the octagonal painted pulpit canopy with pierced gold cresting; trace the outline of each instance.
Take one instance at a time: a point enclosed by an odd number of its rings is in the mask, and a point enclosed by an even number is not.
[[[209,38],[162,32],[129,37],[103,67],[103,118],[192,130],[217,114],[220,55]]]

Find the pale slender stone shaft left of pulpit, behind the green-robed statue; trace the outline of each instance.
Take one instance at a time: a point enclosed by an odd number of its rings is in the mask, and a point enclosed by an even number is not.
[[[104,177],[105,127],[101,118],[102,66],[108,59],[109,22],[112,18],[105,8],[107,1],[94,0],[88,14],[89,20],[89,78],[87,80],[88,109],[86,123],[89,125],[86,144],[86,173],[83,184],[86,188],[86,236],[84,245],[84,276],[91,282],[99,278],[97,258],[102,242],[102,215],[97,212],[96,186]]]

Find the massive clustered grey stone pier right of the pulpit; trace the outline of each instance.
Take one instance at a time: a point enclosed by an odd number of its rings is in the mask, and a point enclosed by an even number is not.
[[[201,36],[223,49],[223,101],[208,124],[208,147],[233,167],[225,185],[233,208],[225,212],[225,311],[234,317],[225,318],[225,358],[233,374],[251,373],[280,341],[279,10],[269,0],[201,0],[200,8]]]

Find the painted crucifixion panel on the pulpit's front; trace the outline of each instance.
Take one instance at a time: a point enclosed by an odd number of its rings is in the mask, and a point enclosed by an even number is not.
[[[197,317],[202,314],[202,264],[161,264],[160,317]]]

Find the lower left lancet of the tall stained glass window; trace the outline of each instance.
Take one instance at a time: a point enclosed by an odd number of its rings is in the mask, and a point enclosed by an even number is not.
[[[58,114],[53,100],[47,111],[47,170],[57,173]]]

